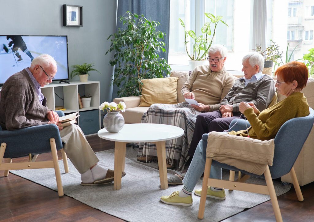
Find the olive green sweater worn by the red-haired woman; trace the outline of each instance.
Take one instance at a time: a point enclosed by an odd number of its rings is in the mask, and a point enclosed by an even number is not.
[[[309,105],[303,93],[292,93],[279,103],[255,114],[253,108],[244,111],[244,115],[250,122],[248,132],[250,138],[270,140],[275,138],[280,127],[289,119],[304,117],[310,113]],[[231,131],[229,134],[247,137],[247,131]]]

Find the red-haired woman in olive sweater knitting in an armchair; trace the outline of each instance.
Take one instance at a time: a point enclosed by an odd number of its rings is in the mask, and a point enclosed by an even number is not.
[[[254,103],[241,102],[239,109],[245,115],[251,127],[248,130],[238,132],[231,131],[229,134],[245,136],[259,140],[270,140],[275,138],[279,128],[289,119],[307,116],[309,105],[301,90],[306,86],[308,70],[302,62],[288,62],[275,72],[277,76],[276,87],[278,92],[285,99],[273,105],[270,108],[260,112]],[[202,140],[198,143],[197,149],[193,156],[192,162],[182,181],[184,187],[181,191],[173,192],[169,196],[162,196],[160,199],[166,204],[191,206],[192,191],[198,182],[198,179],[204,172],[206,161],[206,147],[202,146]],[[221,168],[211,167],[210,177],[221,179]],[[198,196],[201,189],[195,190]],[[223,200],[225,199],[225,191],[221,188],[208,187],[207,197]]]

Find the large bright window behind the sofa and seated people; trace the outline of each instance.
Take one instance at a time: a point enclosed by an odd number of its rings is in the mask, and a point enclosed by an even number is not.
[[[309,16],[314,16],[312,1],[170,1],[168,63],[173,70],[187,70],[189,60],[184,45],[184,29],[178,18],[184,21],[187,31],[196,31],[196,35],[199,36],[203,24],[209,21],[204,12],[223,16],[222,20],[229,25],[227,28],[224,24],[218,24],[213,44],[222,44],[227,47],[228,57],[225,66],[232,74],[235,74],[233,71],[241,71],[242,58],[247,52],[252,51],[257,45],[263,46],[263,49],[267,48],[272,44],[270,40],[276,42],[279,50],[284,52],[283,61],[285,61],[288,42],[289,56],[297,46],[292,56],[295,59],[302,58],[307,50],[314,48],[314,19],[309,18]],[[213,27],[211,29],[213,31]],[[187,41],[191,41],[190,36]],[[190,42],[187,44],[188,50],[191,45]]]

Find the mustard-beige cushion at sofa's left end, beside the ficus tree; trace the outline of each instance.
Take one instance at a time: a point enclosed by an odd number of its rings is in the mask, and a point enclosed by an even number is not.
[[[154,103],[177,104],[177,81],[179,77],[143,79],[141,106]]]

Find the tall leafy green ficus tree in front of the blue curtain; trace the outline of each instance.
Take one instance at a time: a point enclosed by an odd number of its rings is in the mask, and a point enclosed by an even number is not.
[[[141,95],[142,79],[162,78],[170,72],[170,66],[157,53],[165,52],[165,33],[157,31],[159,22],[146,19],[143,15],[126,12],[119,17],[124,29],[111,34],[110,49],[114,51],[111,66],[115,66],[113,85],[118,96]]]

